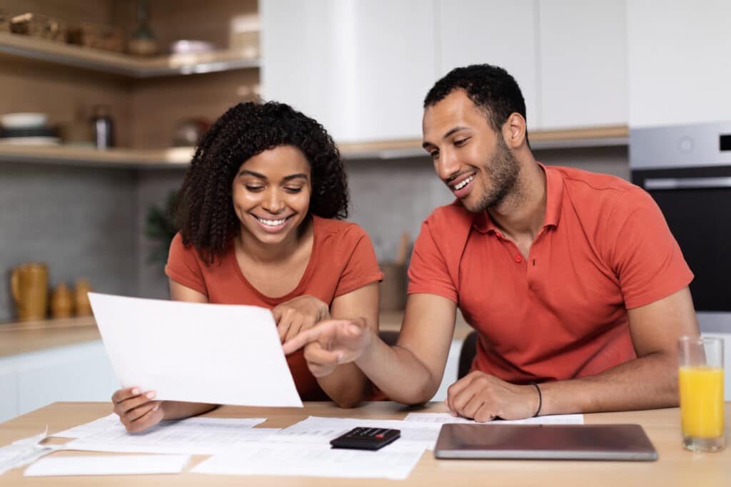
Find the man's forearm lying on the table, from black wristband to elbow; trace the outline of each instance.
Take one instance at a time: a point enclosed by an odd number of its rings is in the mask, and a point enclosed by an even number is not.
[[[677,357],[654,353],[591,377],[542,383],[540,388],[541,415],[676,407]]]

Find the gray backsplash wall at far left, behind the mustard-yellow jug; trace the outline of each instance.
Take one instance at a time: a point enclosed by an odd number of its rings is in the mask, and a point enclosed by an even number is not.
[[[87,277],[133,294],[136,187],[124,169],[0,163],[0,319],[15,313],[10,272],[23,262],[47,263],[52,286]]]

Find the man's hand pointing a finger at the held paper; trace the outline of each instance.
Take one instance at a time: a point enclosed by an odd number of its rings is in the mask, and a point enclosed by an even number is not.
[[[362,320],[327,320],[284,342],[284,353],[305,348],[307,367],[315,377],[325,377],[338,364],[355,361],[371,344],[373,332]]]

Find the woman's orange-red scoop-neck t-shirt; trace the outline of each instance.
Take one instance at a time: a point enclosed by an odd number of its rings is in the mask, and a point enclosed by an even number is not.
[[[170,245],[165,274],[217,304],[249,304],[272,309],[303,294],[328,305],[333,299],[383,279],[371,239],[355,223],[313,215],[312,253],[300,283],[286,296],[272,298],[257,291],[241,272],[233,239],[222,258],[206,265],[193,246],[185,247],[181,234]],[[302,350],[287,356],[295,386],[304,401],[329,399],[307,368]]]

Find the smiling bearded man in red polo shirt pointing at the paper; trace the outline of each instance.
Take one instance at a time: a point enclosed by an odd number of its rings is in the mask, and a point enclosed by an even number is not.
[[[423,146],[455,194],[423,223],[397,345],[350,321],[298,335],[315,375],[355,361],[391,399],[439,387],[460,307],[479,334],[447,406],[477,421],[678,404],[677,339],[699,334],[692,272],[662,213],[616,177],[533,157],[515,80],[454,69],[424,102]]]

